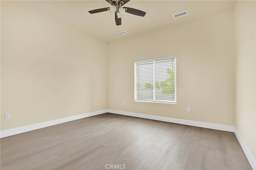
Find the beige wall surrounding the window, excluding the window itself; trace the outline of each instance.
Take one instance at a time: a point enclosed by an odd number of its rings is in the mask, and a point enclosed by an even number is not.
[[[111,42],[108,108],[233,126],[233,26],[228,10]],[[134,102],[133,61],[171,55],[177,55],[177,104]]]

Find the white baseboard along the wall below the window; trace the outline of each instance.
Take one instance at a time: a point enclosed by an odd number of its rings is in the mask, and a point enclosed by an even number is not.
[[[172,117],[163,117],[163,116],[156,116],[156,115],[147,115],[142,113],[133,113],[128,111],[120,111],[120,110],[113,110],[113,109],[107,109],[109,113],[115,113],[119,115],[127,115],[127,116],[133,116],[133,117],[140,117],[144,119],[152,119],[152,120],[158,120],[158,121],[165,121],[170,123],[178,123],[182,125],[190,125],[190,126],[196,126],[196,127],[204,127],[208,129],[216,129],[220,131],[228,131],[228,132],[236,132],[236,128],[234,126],[228,126],[228,125],[220,125],[215,123],[206,123],[202,121],[192,121],[192,120],[186,120],[186,119],[176,119]]]

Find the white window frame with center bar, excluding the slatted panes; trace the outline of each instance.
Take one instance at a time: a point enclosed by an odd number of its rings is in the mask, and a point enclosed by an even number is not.
[[[177,75],[177,71],[176,71],[176,65],[177,65],[177,59],[176,59],[176,55],[173,56],[168,56],[168,57],[160,57],[160,58],[154,58],[154,59],[146,59],[146,60],[138,60],[138,61],[134,61],[134,101],[135,102],[150,102],[150,103],[165,103],[165,104],[176,104],[177,103],[177,88],[176,88],[176,75]],[[174,81],[175,81],[175,94],[174,94],[174,98],[175,101],[172,102],[164,102],[164,101],[155,101],[155,61],[160,61],[160,60],[168,60],[168,59],[175,59],[175,76],[174,76]],[[136,75],[137,75],[137,68],[136,68],[136,63],[142,63],[142,62],[147,62],[147,61],[154,61],[154,76],[153,76],[153,101],[145,101],[145,100],[137,100],[137,80],[136,80]]]

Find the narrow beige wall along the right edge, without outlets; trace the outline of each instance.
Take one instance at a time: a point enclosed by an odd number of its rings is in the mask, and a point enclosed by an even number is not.
[[[256,158],[255,8],[255,1],[236,1],[234,6],[236,129],[254,158]]]

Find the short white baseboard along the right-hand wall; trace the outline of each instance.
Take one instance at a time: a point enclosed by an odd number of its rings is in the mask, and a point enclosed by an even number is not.
[[[235,133],[236,138],[237,138],[238,142],[240,143],[240,145],[241,145],[241,147],[244,151],[244,154],[245,154],[248,162],[252,166],[252,169],[256,170],[256,160],[254,159],[254,156],[252,155],[252,153],[250,152],[250,150],[248,149],[248,147],[244,143],[244,140],[242,139],[242,137],[240,136],[238,131],[236,130],[234,133]]]

